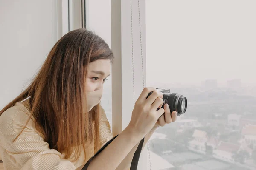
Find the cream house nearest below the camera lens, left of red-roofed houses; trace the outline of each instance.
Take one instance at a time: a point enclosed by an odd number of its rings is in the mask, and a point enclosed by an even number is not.
[[[205,144],[208,140],[207,133],[202,130],[194,130],[192,137],[194,139],[188,142],[189,150],[204,154],[206,150]]]

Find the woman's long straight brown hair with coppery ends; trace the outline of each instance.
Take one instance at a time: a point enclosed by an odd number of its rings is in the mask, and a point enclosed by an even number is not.
[[[51,149],[64,153],[65,159],[75,149],[75,160],[81,154],[78,145],[82,144],[85,152],[87,144],[95,139],[99,149],[99,105],[88,114],[82,113],[86,110],[82,103],[86,98],[87,66],[97,59],[113,62],[107,43],[86,29],[70,31],[53,46],[28,88],[6,105],[0,115],[16,102],[29,98],[29,119],[35,118],[38,132]]]

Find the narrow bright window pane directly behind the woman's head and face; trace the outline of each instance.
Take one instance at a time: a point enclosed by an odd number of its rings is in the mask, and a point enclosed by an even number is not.
[[[111,1],[101,0],[101,6],[98,1],[94,0],[81,0],[69,1],[71,5],[75,6],[76,10],[73,13],[81,14],[82,17],[74,17],[73,22],[80,20],[79,24],[74,25],[76,28],[87,28],[102,37],[111,48]],[[79,7],[78,7],[79,6]],[[72,10],[71,10],[72,11]],[[95,12],[100,11],[100,12]],[[105,16],[105,17],[102,17]],[[76,19],[75,19],[76,18]],[[76,21],[76,22],[78,22]],[[75,23],[76,23],[75,22]],[[100,24],[99,24],[100,23]],[[72,24],[70,24],[72,25]],[[72,26],[73,26],[72,25]],[[106,116],[110,123],[112,131],[112,79],[111,76],[104,83],[104,90],[101,99],[101,105],[105,110]]]

